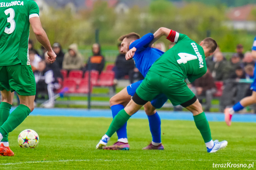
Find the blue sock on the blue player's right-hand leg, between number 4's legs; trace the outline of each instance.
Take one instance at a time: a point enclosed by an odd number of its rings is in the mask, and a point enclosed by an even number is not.
[[[147,116],[149,121],[149,128],[152,134],[152,142],[161,143],[161,120],[156,112],[153,115]],[[158,144],[159,145],[159,144]]]

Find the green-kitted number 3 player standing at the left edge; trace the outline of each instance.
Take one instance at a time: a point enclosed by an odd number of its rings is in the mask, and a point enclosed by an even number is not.
[[[56,55],[39,19],[39,8],[32,0],[1,0],[0,3],[0,155],[14,156],[9,148],[8,133],[12,132],[34,109],[35,78],[28,58],[29,26],[36,39],[46,48],[48,60]],[[13,93],[20,105],[12,111]]]

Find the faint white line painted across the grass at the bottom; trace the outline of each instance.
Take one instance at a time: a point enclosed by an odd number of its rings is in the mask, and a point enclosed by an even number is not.
[[[58,160],[58,161],[24,161],[24,162],[15,162],[15,163],[0,163],[1,165],[19,165],[19,164],[27,164],[27,163],[55,163],[55,162],[90,162],[90,161],[213,161],[211,159],[67,159],[67,160]],[[222,162],[228,162],[231,160],[221,160]],[[247,161],[247,162],[256,162],[256,160],[236,160],[236,161]],[[235,162],[232,160],[232,162]]]

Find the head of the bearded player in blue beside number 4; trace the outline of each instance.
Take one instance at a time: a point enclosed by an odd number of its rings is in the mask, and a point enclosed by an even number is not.
[[[139,38],[140,38],[139,34],[136,34],[136,33],[129,33],[126,35],[122,35],[120,38],[118,38],[119,41],[122,41],[120,51],[123,54],[126,54],[129,51],[130,44]]]

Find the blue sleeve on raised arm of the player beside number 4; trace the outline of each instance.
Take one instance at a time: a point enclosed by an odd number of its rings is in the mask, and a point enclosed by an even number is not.
[[[153,39],[154,39],[154,35],[152,33],[148,33],[143,37],[141,37],[140,39],[131,43],[131,45],[129,46],[129,49],[132,49],[133,47],[135,47],[137,49],[136,51],[145,50]]]

